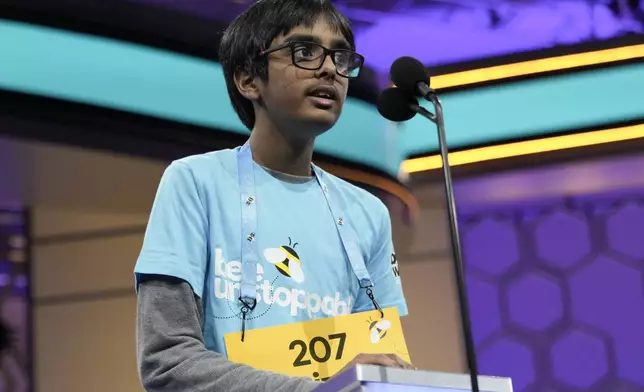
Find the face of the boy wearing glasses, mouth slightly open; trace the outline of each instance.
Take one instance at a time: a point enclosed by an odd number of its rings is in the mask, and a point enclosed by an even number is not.
[[[324,18],[310,28],[296,27],[276,37],[271,46],[293,40],[313,41],[328,49],[350,48]],[[268,55],[268,81],[257,78],[257,84],[260,99],[276,125],[293,129],[297,136],[315,137],[338,120],[349,81],[337,74],[330,55],[320,69],[307,70],[293,64],[291,50],[286,48]]]

